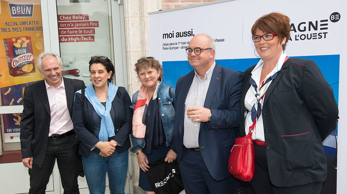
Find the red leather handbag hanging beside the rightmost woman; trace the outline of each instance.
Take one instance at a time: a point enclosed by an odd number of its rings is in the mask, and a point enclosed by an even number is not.
[[[254,147],[251,127],[249,127],[249,133],[246,136],[235,139],[229,157],[229,173],[235,178],[245,181],[252,180],[254,175]]]

